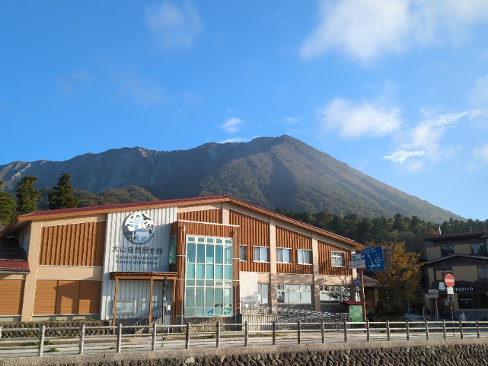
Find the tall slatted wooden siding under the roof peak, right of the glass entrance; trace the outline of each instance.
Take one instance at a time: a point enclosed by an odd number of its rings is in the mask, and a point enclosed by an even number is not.
[[[239,225],[237,231],[236,257],[239,256],[238,245],[245,245],[246,261],[239,261],[239,270],[245,272],[269,272],[269,262],[253,261],[252,247],[269,248],[269,224],[262,220],[252,218],[237,211],[230,211],[230,224]],[[270,253],[268,252],[268,259]]]

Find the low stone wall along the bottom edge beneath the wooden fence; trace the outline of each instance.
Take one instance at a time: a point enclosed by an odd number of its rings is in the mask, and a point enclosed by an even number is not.
[[[1,356],[0,356],[1,357]],[[486,340],[361,342],[0,358],[0,366],[487,365]]]

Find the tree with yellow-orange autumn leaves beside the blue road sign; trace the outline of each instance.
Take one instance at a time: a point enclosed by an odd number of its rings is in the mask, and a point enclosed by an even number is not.
[[[376,313],[386,316],[404,314],[421,301],[420,254],[406,252],[405,243],[382,243],[391,248],[392,268],[374,272],[378,280]]]

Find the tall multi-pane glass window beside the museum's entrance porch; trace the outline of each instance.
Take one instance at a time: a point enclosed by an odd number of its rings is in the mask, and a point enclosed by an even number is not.
[[[232,240],[187,236],[185,317],[232,315]]]

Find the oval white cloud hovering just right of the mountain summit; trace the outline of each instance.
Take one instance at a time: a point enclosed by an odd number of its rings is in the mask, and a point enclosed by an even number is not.
[[[319,109],[319,119],[325,129],[337,129],[342,137],[382,137],[398,130],[402,124],[399,109],[364,102],[354,105],[337,98]]]

